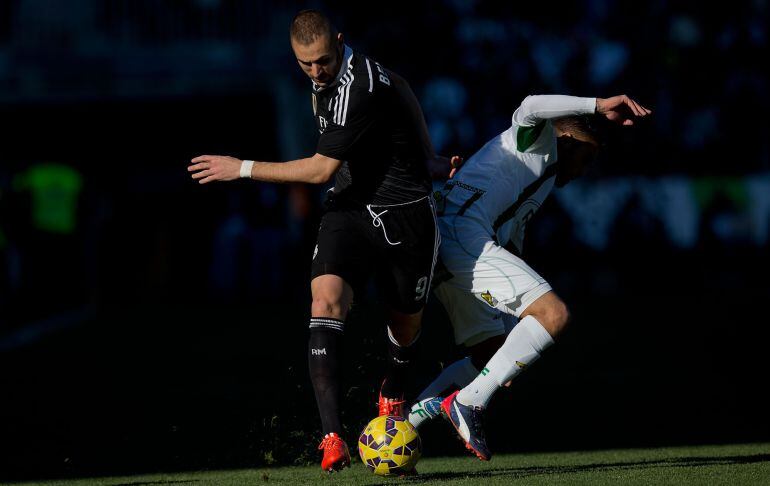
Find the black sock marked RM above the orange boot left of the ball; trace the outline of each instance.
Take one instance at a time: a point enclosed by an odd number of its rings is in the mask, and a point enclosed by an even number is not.
[[[308,369],[324,435],[330,432],[342,434],[337,353],[343,329],[344,323],[338,319],[310,319]]]

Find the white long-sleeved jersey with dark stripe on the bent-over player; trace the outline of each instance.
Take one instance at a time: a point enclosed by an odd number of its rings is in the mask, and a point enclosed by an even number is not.
[[[444,225],[454,224],[447,218],[454,221],[455,216],[474,220],[498,245],[511,242],[521,253],[524,228],[556,178],[556,133],[549,120],[590,114],[595,108],[596,98],[525,98],[513,113],[511,127],[484,145],[447,183]]]

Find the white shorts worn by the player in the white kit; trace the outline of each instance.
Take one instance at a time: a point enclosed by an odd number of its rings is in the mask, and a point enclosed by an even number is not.
[[[524,260],[499,246],[478,223],[439,219],[441,259],[452,278],[434,291],[452,321],[455,342],[473,346],[511,330],[532,302],[551,291]]]

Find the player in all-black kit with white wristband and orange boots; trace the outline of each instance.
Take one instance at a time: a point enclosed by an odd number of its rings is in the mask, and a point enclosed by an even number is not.
[[[283,163],[202,155],[189,171],[201,184],[248,177],[323,184],[329,191],[313,254],[310,377],[324,438],[321,467],[349,465],[340,437],[338,353],[354,289],[375,276],[388,306],[388,370],[380,415],[403,416],[403,381],[413,361],[439,246],[425,120],[408,84],[344,44],[320,12],[291,24],[291,46],[312,80],[320,133],[316,154]]]

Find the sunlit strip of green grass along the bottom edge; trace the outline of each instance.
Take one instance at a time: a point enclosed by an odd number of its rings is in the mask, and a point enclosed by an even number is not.
[[[357,459],[355,457],[354,459]],[[420,474],[379,478],[359,461],[341,473],[318,466],[201,471],[17,483],[24,485],[494,485],[770,484],[770,444],[424,458]]]

